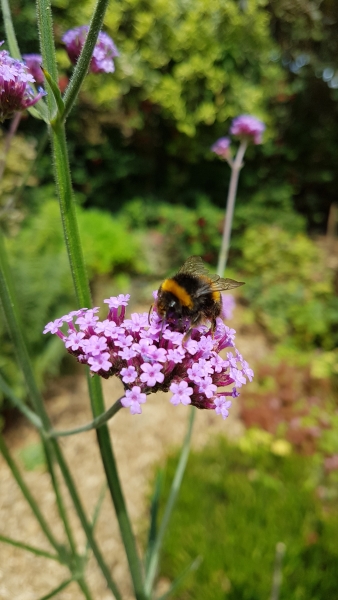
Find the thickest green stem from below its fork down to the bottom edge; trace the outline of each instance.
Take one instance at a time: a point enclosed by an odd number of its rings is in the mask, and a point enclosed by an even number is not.
[[[84,265],[82,247],[77,226],[75,204],[73,201],[68,152],[64,125],[55,122],[51,128],[54,165],[58,187],[60,210],[64,228],[68,257],[73,276],[74,287],[80,307],[91,305],[89,283]],[[104,413],[104,400],[100,379],[91,377],[87,369],[88,389],[94,419]],[[130,519],[122,493],[115,457],[107,425],[96,430],[99,449],[105,469],[110,494],[114,503],[120,532],[125,547],[131,578],[137,600],[145,600],[141,562],[137,553]]]

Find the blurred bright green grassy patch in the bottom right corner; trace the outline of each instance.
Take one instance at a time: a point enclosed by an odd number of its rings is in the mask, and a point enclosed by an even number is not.
[[[197,556],[203,561],[173,598],[269,598],[278,542],[286,545],[280,600],[335,598],[337,482],[322,503],[317,461],[279,455],[264,432],[240,446],[219,439],[189,458],[160,576],[173,580]],[[165,495],[176,461],[167,465]]]

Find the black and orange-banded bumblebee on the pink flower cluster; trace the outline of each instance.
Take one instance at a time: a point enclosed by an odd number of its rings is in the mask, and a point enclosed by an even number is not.
[[[210,321],[214,333],[222,312],[221,292],[240,285],[243,282],[211,275],[200,256],[190,256],[176,275],[160,285],[154,307],[163,322],[178,323],[180,328],[187,323],[185,341],[191,330],[205,321]]]

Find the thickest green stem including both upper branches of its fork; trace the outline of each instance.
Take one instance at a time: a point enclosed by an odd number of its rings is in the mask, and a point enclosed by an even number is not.
[[[74,84],[66,94],[65,101],[67,102],[67,110],[71,109],[76,95],[79,91],[83,77],[85,76],[89,60],[91,58],[92,51],[95,46],[96,37],[99,29],[102,25],[104,12],[107,7],[107,0],[98,0],[93,19],[92,19],[92,32],[91,35],[87,36],[87,44],[83,49],[82,55],[78,61],[79,70],[76,75]],[[54,52],[53,44],[53,33],[52,33],[52,21],[49,0],[37,0],[38,13],[39,13],[39,29],[41,38],[41,48],[44,64],[47,66],[52,78],[57,80],[57,73],[55,66],[55,57],[51,56]],[[47,11],[47,15],[44,13]],[[96,31],[96,36],[95,36]],[[88,39],[89,38],[89,39]],[[82,254],[82,247],[79,237],[77,218],[75,212],[75,205],[73,200],[71,176],[68,161],[68,152],[66,144],[66,135],[64,125],[58,120],[52,123],[51,127],[51,141],[53,158],[55,165],[55,177],[58,189],[61,218],[64,228],[64,236],[66,246],[68,250],[70,268],[72,272],[74,287],[77,295],[77,300],[80,307],[90,306],[90,290],[89,282],[86,274],[84,265],[84,259]],[[87,371],[88,372],[88,371]],[[88,388],[91,399],[91,406],[94,419],[99,417],[104,412],[104,401],[102,396],[102,388],[97,376],[93,378],[88,375]],[[127,559],[129,563],[131,578],[135,590],[137,600],[145,600],[143,592],[143,577],[141,571],[141,562],[136,549],[136,543],[131,529],[129,516],[127,514],[126,505],[121,489],[120,480],[117,473],[115,458],[113,455],[112,445],[110,441],[109,431],[107,425],[102,425],[96,430],[101,457],[104,465],[104,469],[107,476],[107,482],[110,489],[110,493],[115,506],[120,532],[125,546]],[[56,443],[56,440],[53,440]],[[60,463],[59,463],[60,464]],[[61,464],[60,464],[61,466]],[[69,485],[70,482],[68,481]]]

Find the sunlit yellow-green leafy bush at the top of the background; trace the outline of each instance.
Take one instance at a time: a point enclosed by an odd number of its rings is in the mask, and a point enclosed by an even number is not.
[[[89,21],[93,2],[63,7],[57,22],[67,29]],[[259,116],[282,79],[261,3],[243,11],[234,0],[122,0],[109,5],[105,25],[121,51],[116,76],[88,78],[84,94],[101,108],[117,103],[125,127],[143,129],[154,110],[192,137],[238,112]]]

